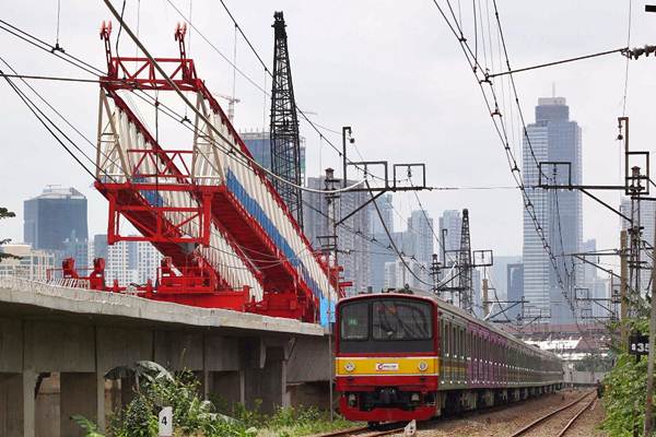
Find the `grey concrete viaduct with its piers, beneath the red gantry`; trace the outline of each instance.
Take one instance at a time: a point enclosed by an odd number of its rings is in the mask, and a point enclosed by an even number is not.
[[[107,371],[144,359],[265,412],[325,399],[330,371],[318,324],[0,277],[1,436],[81,435],[71,414],[104,430],[131,392]]]

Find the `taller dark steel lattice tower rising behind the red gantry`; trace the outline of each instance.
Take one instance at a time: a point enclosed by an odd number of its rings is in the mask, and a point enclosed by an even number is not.
[[[286,25],[282,12],[276,12],[273,19],[276,42],[271,90],[271,172],[289,182],[301,186],[301,138],[292,85]],[[273,178],[273,186],[298,225],[303,227],[301,190],[277,178]]]

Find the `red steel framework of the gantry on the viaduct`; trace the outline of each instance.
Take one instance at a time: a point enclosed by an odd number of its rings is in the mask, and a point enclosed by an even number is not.
[[[105,42],[107,75],[101,80],[101,102],[98,120],[97,162],[108,160],[101,156],[103,142],[118,144],[119,128],[110,109],[113,102],[116,110],[127,117],[128,123],[143,138],[144,149],[127,146],[113,157],[113,168],[120,167],[118,173],[97,168],[96,189],[109,202],[107,241],[149,241],[163,256],[155,285],[149,281],[147,285],[136,288],[143,296],[159,300],[201,306],[208,308],[230,308],[259,312],[269,316],[289,317],[304,321],[317,321],[319,318],[319,298],[301,277],[296,268],[288,259],[281,248],[277,247],[272,237],[267,234],[258,221],[251,216],[235,194],[226,187],[225,179],[216,177],[202,179],[198,169],[192,168],[199,158],[198,150],[165,150],[150,133],[147,127],[132,111],[131,107],[119,95],[121,91],[175,91],[175,88],[156,70],[148,58],[115,57],[112,54],[109,36],[112,23],[103,22],[101,38]],[[175,40],[179,46],[179,58],[157,58],[155,62],[169,71],[173,83],[183,92],[194,92],[198,96],[198,107],[206,109],[208,105],[227,129],[234,146],[253,158],[246,145],[229,121],[223,109],[196,73],[192,59],[188,59],[185,49],[186,25],[179,25],[175,32]],[[157,105],[157,103],[155,103]],[[114,133],[103,133],[103,114],[107,114],[107,126]],[[206,111],[206,114],[208,114]],[[199,133],[198,117],[195,129],[195,141]],[[209,129],[208,129],[209,132]],[[108,135],[108,140],[104,138]],[[130,139],[128,140],[128,142]],[[130,143],[131,144],[131,143]],[[196,143],[195,143],[196,145]],[[216,153],[215,147],[212,147]],[[230,153],[230,152],[229,152]],[[232,152],[235,153],[235,152]],[[191,160],[191,166],[188,164]],[[329,284],[343,296],[345,283],[339,282],[338,267],[330,267],[329,260],[312,250],[297,223],[273,189],[266,174],[253,164],[247,164],[258,175],[261,189],[268,190],[284,215],[293,225],[309,256],[319,263],[323,274]],[[216,169],[221,173],[221,168]],[[166,200],[184,196],[185,204],[176,204]],[[139,236],[121,235],[120,220],[132,224]],[[219,272],[211,257],[203,248],[211,248],[212,229],[219,232],[230,246],[235,257],[242,261],[248,273],[261,284],[261,299],[255,298],[250,286],[231,286]],[[276,262],[272,262],[272,261]],[[125,287],[115,283],[107,286],[104,280],[104,260],[94,260],[94,268],[89,276],[80,276],[72,260],[67,260],[61,271],[65,277],[89,280],[93,290],[124,292]]]

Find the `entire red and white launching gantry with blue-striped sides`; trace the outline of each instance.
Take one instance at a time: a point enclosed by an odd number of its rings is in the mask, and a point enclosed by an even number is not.
[[[108,244],[149,241],[164,256],[156,285],[138,293],[304,321],[326,317],[327,306],[343,296],[339,269],[315,253],[198,78],[185,51],[186,25],[175,32],[180,57],[155,61],[180,91],[196,95],[196,108],[212,125],[196,117],[189,149],[164,149],[134,115],[125,96],[175,90],[148,58],[113,56],[110,32],[112,23],[103,23],[107,75],[101,81],[95,187],[109,201]],[[121,218],[141,235],[121,235]],[[119,291],[97,280],[92,287]]]

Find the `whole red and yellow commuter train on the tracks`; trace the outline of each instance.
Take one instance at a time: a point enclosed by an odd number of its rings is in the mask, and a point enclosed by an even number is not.
[[[351,421],[425,421],[563,383],[561,361],[436,297],[366,294],[336,307],[336,380]]]

